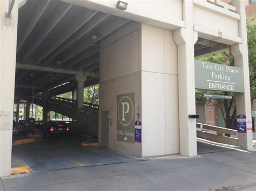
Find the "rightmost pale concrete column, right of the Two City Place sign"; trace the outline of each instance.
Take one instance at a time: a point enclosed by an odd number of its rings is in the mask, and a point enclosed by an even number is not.
[[[232,45],[231,53],[234,56],[235,66],[241,67],[244,73],[244,93],[236,94],[237,115],[245,115],[246,120],[252,122],[245,1],[232,1],[232,5],[237,7],[237,11],[240,14],[238,30],[239,36],[242,38],[242,43]],[[247,130],[247,133],[238,133],[238,145],[246,150],[251,151],[253,149],[252,130]]]

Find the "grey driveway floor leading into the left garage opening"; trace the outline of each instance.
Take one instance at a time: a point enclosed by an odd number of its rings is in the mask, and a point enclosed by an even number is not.
[[[30,172],[146,160],[105,147],[82,147],[77,137],[44,139],[12,147],[12,164],[25,164]]]

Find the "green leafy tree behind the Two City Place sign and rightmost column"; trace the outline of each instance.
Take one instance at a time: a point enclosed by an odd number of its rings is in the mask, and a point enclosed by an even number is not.
[[[251,98],[256,98],[256,23],[252,22],[255,20],[255,16],[247,19],[247,39],[248,39],[248,61],[250,70],[250,87],[251,87]],[[225,65],[234,66],[234,58],[230,51],[221,52],[215,55],[206,56],[200,58],[200,60],[207,62],[220,63]],[[203,98],[201,95],[207,94],[218,94],[218,95],[231,95],[232,100],[224,100],[224,109],[218,104]],[[196,89],[196,99],[204,100],[207,104],[212,104],[214,107],[219,108],[223,115],[225,126],[228,129],[234,128],[235,116],[237,115],[237,107],[235,104],[235,94],[226,91],[209,91]],[[233,109],[233,111],[232,111]],[[232,111],[232,113],[231,113]]]

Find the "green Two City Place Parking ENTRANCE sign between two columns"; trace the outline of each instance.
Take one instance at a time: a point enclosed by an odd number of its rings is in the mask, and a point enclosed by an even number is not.
[[[198,89],[244,92],[242,68],[194,60],[195,85]]]

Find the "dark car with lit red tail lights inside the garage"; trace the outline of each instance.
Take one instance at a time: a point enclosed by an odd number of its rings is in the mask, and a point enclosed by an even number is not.
[[[69,135],[70,127],[65,122],[44,123],[43,133],[45,138],[49,138],[56,135]]]

